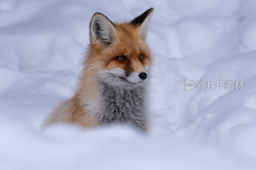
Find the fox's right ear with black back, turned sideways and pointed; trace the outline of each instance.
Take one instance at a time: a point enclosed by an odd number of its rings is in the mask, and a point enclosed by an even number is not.
[[[139,26],[139,36],[141,39],[147,38],[148,24],[154,12],[154,8],[150,8],[140,16],[134,18],[131,24]]]

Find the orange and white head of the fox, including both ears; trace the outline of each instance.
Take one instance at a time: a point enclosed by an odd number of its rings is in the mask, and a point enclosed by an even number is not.
[[[143,85],[153,57],[146,44],[150,8],[131,22],[113,23],[97,12],[90,23],[90,45],[86,62],[97,79],[113,85]],[[88,63],[87,63],[88,64]]]

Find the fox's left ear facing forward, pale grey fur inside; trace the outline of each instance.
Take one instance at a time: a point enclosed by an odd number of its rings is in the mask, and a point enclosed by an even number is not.
[[[105,15],[96,12],[90,23],[90,37],[94,42],[108,46],[116,40],[115,26]]]

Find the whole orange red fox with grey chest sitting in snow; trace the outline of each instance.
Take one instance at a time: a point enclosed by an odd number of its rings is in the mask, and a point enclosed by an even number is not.
[[[146,43],[150,8],[131,22],[113,23],[97,12],[78,88],[44,122],[86,128],[126,124],[144,133],[150,128],[148,85],[153,56]]]

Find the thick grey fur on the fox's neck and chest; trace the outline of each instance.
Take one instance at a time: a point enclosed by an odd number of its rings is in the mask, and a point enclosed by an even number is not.
[[[128,124],[144,133],[146,127],[145,86],[118,87],[101,82],[100,124]]]

